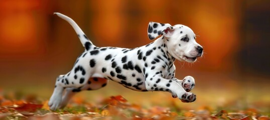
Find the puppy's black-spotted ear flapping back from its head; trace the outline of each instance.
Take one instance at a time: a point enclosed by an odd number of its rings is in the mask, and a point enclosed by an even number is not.
[[[160,34],[163,34],[166,37],[166,35],[172,33],[172,29],[173,28],[169,23],[158,23],[150,21],[147,29],[148,38],[152,40]]]

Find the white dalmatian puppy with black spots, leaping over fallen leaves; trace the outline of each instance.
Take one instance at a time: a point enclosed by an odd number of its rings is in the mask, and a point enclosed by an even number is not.
[[[136,48],[98,47],[68,16],[55,13],[68,21],[85,48],[73,68],[56,79],[48,105],[63,108],[71,96],[81,90],[95,90],[113,80],[137,91],[168,91],[183,102],[193,102],[196,95],[189,92],[195,86],[192,76],[175,78],[175,59],[195,62],[203,47],[195,40],[191,28],[182,24],[149,22],[148,37],[155,41]]]

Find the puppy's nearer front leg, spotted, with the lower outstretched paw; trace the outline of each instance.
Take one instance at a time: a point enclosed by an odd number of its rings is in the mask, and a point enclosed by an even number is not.
[[[146,78],[146,89],[148,91],[169,91],[172,95],[176,95],[183,102],[193,102],[196,100],[196,95],[187,92],[181,85],[171,79],[161,77],[161,74],[150,74]],[[152,76],[152,77],[151,77]]]

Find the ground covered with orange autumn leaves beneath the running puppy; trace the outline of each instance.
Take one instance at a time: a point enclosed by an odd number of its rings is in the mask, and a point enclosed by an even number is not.
[[[177,105],[151,106],[131,103],[121,95],[90,103],[83,98],[73,98],[62,110],[49,110],[48,100],[35,95],[17,99],[11,95],[0,96],[0,119],[270,119],[255,108],[238,110],[213,109],[200,106],[186,110]],[[175,107],[174,107],[175,106]]]

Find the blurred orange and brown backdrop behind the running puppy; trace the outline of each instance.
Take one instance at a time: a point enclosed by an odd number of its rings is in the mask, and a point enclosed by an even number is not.
[[[73,28],[53,15],[61,12],[97,46],[150,43],[149,21],[185,24],[198,35],[205,52],[195,63],[175,61],[177,78],[196,79],[193,92],[198,98],[189,104],[226,106],[240,101],[263,109],[259,103],[264,102],[269,110],[269,6],[269,0],[1,0],[0,91],[49,99],[56,77],[67,73],[84,49]],[[90,100],[115,94],[133,102],[141,95],[140,100],[148,100],[145,104],[172,99],[169,93],[132,91],[112,81],[101,90],[80,93]]]

